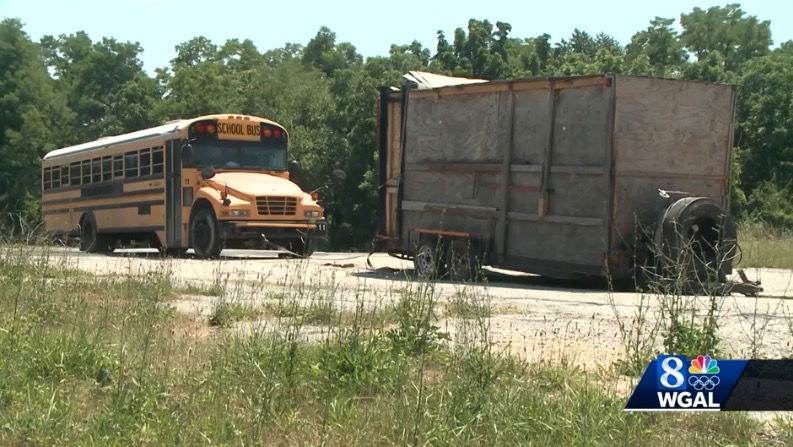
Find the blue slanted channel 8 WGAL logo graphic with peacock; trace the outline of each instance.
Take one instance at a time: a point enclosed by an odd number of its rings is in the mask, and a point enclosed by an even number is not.
[[[659,355],[650,363],[626,410],[719,411],[746,365],[700,355]]]

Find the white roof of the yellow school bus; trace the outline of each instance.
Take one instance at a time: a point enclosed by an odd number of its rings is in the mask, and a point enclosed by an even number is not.
[[[274,124],[276,126],[283,128],[283,126],[281,126],[280,124],[274,121],[255,116],[237,115],[237,114],[205,115],[190,119],[174,120],[157,127],[150,127],[148,129],[136,130],[135,132],[125,133],[121,135],[113,135],[110,137],[101,137],[97,140],[89,141],[88,143],[82,143],[74,146],[68,146],[61,149],[56,149],[54,151],[48,152],[47,155],[44,156],[44,160],[64,157],[66,155],[76,154],[78,152],[90,151],[92,149],[99,149],[103,147],[113,146],[116,144],[129,143],[138,140],[147,140],[150,138],[161,137],[167,134],[174,134],[184,129],[185,127],[189,126],[194,121],[205,120],[205,119],[256,120],[267,124]]]

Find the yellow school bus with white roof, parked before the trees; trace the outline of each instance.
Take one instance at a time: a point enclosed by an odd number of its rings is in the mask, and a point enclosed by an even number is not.
[[[288,142],[268,119],[208,115],[52,151],[41,162],[45,228],[94,253],[148,242],[199,258],[223,248],[310,255],[324,211],[290,181]]]

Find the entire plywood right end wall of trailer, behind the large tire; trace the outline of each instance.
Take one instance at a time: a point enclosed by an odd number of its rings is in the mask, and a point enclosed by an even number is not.
[[[616,95],[612,247],[630,245],[636,222],[652,225],[676,198],[727,207],[734,87],[617,76]]]

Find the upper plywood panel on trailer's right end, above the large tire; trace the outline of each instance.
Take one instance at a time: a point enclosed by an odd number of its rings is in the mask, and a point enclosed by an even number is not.
[[[618,76],[616,95],[617,175],[726,175],[733,86]]]

